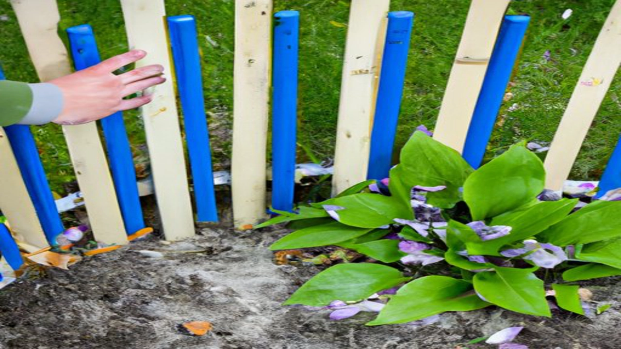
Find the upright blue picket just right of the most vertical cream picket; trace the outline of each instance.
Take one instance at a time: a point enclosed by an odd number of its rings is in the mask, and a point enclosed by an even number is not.
[[[272,207],[293,210],[296,173],[297,55],[300,14],[274,14],[272,81]]]

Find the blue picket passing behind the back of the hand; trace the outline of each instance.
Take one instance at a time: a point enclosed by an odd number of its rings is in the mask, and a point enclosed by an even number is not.
[[[86,69],[101,61],[93,29],[90,25],[83,24],[68,28],[67,34],[73,65],[76,70]],[[125,131],[123,113],[116,112],[101,119],[101,127],[104,131],[109,166],[125,223],[125,232],[127,235],[131,235],[145,228],[145,221],[140,206],[134,160]]]

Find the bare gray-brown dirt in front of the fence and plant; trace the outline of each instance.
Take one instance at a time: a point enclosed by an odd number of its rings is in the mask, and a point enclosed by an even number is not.
[[[556,310],[546,319],[490,307],[443,314],[424,327],[366,327],[371,314],[334,322],[324,310],[283,307],[319,271],[274,265],[267,246],[284,233],[202,229],[184,242],[132,243],[70,271],[31,273],[0,290],[0,348],[474,349],[494,346],[464,343],[514,325],[525,326],[516,342],[531,349],[621,348],[619,279],[589,286],[594,300],[612,304],[593,319]],[[214,330],[204,337],[178,331],[192,320],[212,322]]]

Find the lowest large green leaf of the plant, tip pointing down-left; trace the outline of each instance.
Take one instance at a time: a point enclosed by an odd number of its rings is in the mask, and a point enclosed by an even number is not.
[[[476,310],[490,305],[481,301],[467,281],[425,276],[399,289],[378,317],[367,325],[402,324],[442,312]]]

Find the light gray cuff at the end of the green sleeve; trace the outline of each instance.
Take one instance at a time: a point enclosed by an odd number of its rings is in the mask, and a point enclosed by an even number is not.
[[[17,124],[43,125],[56,119],[63,111],[63,92],[55,84],[28,84],[32,90],[32,106]]]

